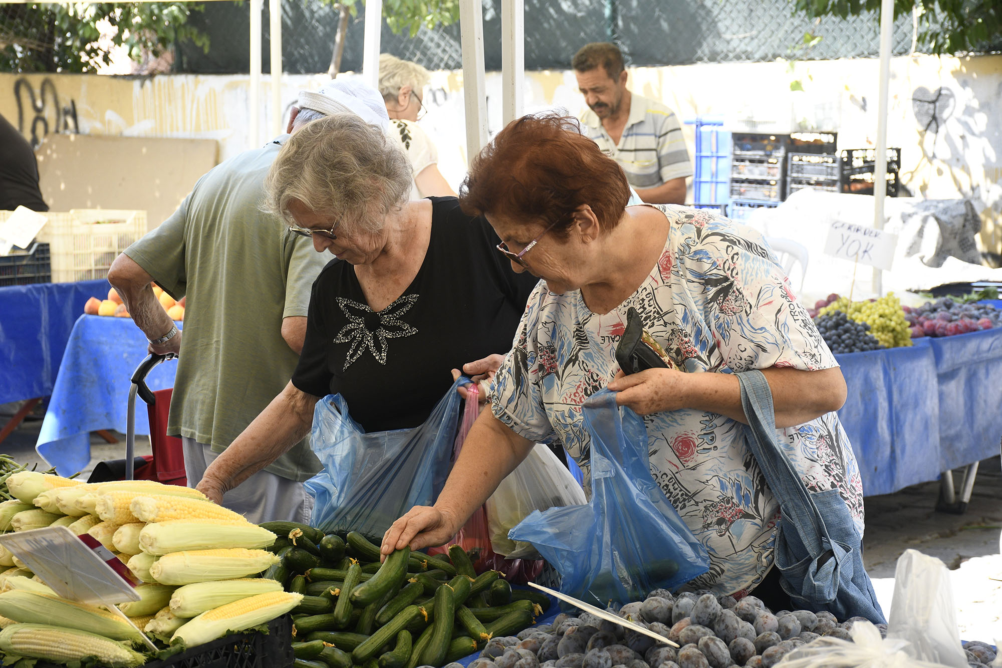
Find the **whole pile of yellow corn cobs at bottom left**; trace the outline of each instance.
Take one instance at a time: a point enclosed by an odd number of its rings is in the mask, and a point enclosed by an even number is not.
[[[100,607],[59,598],[0,548],[0,659],[141,665],[137,628],[194,647],[280,617],[303,598],[256,578],[278,562],[264,549],[275,534],[195,489],[151,480],[83,483],[34,471],[14,473],[7,485],[14,499],[0,503],[0,532],[64,526],[89,534],[142,583],[142,599],[118,606],[133,627]]]

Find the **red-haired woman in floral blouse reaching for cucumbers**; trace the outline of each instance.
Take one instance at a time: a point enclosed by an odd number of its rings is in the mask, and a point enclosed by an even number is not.
[[[576,121],[525,116],[474,160],[464,211],[486,217],[517,272],[542,279],[434,507],[415,508],[383,551],[439,545],[534,442],[559,440],[589,478],[581,404],[598,390],[645,416],[650,472],[706,547],[689,583],[755,590],[790,607],[773,569],[779,504],[744,440],[733,372],[761,369],[788,455],[811,490],[838,488],[863,533],[859,467],[835,411],[846,383],[763,237],[706,210],[627,206],[622,171]],[[616,343],[635,308],[673,368],[623,375]],[[765,586],[764,586],[765,582]],[[784,605],[785,604],[785,605]]]

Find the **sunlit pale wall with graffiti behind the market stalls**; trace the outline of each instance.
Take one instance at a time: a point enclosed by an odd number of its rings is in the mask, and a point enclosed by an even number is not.
[[[720,114],[774,120],[778,127],[815,122],[839,131],[840,148],[876,139],[876,59],[638,68],[630,77],[632,89],[662,99],[682,119]],[[325,79],[285,77],[285,118],[299,89]],[[525,85],[526,111],[582,107],[572,72],[530,72]],[[269,87],[265,77],[263,130],[254,139],[245,76],[0,74],[0,113],[20,122],[26,136],[58,130],[216,139],[225,159],[269,138]],[[500,88],[500,75],[489,73],[492,132],[501,124]],[[467,158],[462,73],[435,72],[425,103],[431,112],[422,125],[437,142],[442,173],[457,187]],[[1002,253],[1002,56],[893,59],[889,116],[889,145],[902,148],[904,185],[916,196],[971,199],[984,222],[982,250]],[[686,134],[691,151],[691,126]]]

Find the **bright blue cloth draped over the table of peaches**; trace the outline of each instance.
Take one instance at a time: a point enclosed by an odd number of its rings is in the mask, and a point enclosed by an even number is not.
[[[60,475],[90,462],[91,431],[125,432],[130,379],[146,345],[131,318],[81,315],[73,325],[35,446]],[[176,366],[171,360],[153,367],[146,385],[154,392],[173,387]],[[145,403],[138,398],[135,433],[149,433]]]

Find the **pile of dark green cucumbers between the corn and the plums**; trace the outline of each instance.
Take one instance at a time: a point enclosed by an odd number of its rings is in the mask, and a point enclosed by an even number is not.
[[[497,571],[477,575],[459,546],[448,558],[405,548],[381,564],[379,547],[355,532],[261,526],[279,537],[270,549],[281,557],[263,577],[304,595],[293,610],[297,668],[437,668],[531,626],[550,605]]]

